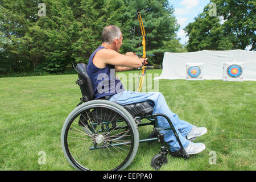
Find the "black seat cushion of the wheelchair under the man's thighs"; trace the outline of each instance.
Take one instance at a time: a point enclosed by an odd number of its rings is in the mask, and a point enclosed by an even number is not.
[[[147,114],[152,114],[152,111],[154,110],[148,101],[129,104],[125,105],[124,107],[133,117],[143,117]]]

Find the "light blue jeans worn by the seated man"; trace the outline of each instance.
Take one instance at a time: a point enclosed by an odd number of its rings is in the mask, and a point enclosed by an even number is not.
[[[186,148],[189,144],[189,140],[185,138],[188,133],[191,131],[192,126],[190,123],[179,119],[177,114],[172,113],[169,109],[164,96],[160,92],[131,92],[129,90],[125,90],[118,94],[112,96],[109,101],[117,102],[121,105],[134,104],[143,101],[152,101],[154,102],[154,111],[153,113],[166,114],[170,119],[172,124],[175,127],[175,130],[180,138],[180,142],[184,148]],[[170,127],[168,121],[163,117],[158,117],[158,126],[160,128]],[[177,141],[174,132],[172,130],[164,130],[161,131],[164,134],[164,141],[170,146],[170,150],[172,152],[180,150],[179,142]]]

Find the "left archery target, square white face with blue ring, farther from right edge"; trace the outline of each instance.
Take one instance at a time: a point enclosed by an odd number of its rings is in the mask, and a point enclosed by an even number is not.
[[[203,64],[187,64],[186,65],[187,80],[204,80]]]

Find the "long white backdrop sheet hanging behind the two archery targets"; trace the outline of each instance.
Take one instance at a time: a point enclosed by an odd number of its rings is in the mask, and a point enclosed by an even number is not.
[[[222,80],[223,64],[227,62],[245,63],[244,80],[256,81],[256,52],[231,51],[199,51],[187,53],[165,52],[163,71],[155,79],[186,79],[186,64],[204,63],[205,80]]]

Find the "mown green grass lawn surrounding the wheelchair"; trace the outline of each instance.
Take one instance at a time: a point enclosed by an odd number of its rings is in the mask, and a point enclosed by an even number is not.
[[[63,154],[60,134],[65,118],[80,102],[76,80],[77,75],[0,78],[0,170],[74,170]],[[161,170],[256,169],[255,81],[159,80],[159,92],[180,119],[208,129],[194,140],[205,143],[206,150],[189,160],[168,155]],[[139,128],[140,137],[151,130]],[[38,163],[40,151],[46,154],[46,164]],[[152,170],[151,159],[159,151],[157,142],[140,143],[127,170]],[[216,164],[209,163],[212,152]]]

